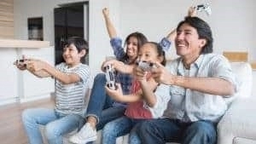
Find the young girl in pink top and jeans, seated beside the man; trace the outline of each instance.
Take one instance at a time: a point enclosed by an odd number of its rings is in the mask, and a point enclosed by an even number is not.
[[[107,93],[115,101],[128,103],[125,110],[125,116],[115,119],[102,130],[102,143],[115,144],[116,138],[121,135],[130,133],[129,143],[140,143],[137,139],[136,125],[140,122],[151,119],[160,118],[166,109],[167,102],[170,97],[154,93],[155,89],[166,89],[166,85],[157,84],[154,78],[151,78],[150,68],[140,65],[143,61],[146,63],[158,63],[165,65],[165,52],[158,43],[148,42],[143,44],[138,53],[138,65],[134,66],[133,73],[135,75],[132,94],[123,95],[122,89],[117,84],[117,89],[109,89],[106,87]],[[149,66],[154,68],[154,66]]]

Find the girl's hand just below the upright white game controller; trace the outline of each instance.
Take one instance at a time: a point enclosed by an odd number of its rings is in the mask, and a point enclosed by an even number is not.
[[[123,101],[123,90],[121,88],[120,84],[116,84],[117,85],[117,89],[109,89],[108,86],[105,86],[106,92],[107,94],[113,98],[113,100],[115,101]]]

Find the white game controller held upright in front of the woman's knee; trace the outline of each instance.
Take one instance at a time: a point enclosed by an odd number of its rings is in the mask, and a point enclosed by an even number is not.
[[[106,79],[107,79],[107,86],[109,89],[116,89],[117,86],[115,84],[115,80],[114,80],[114,70],[113,70],[113,67],[111,65],[108,65],[105,67],[106,69],[106,73],[105,73],[105,76],[106,76]]]

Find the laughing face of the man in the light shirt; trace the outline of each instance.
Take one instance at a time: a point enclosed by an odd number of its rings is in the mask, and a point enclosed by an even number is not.
[[[175,38],[176,53],[183,57],[194,57],[200,55],[202,47],[205,45],[205,39],[199,39],[196,29],[189,24],[184,23],[177,29]]]

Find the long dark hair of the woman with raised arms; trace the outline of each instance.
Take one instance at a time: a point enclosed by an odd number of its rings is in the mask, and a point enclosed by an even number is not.
[[[129,34],[125,38],[125,46],[128,43],[130,37],[136,37],[137,38],[137,48],[138,48],[137,50],[139,50],[143,46],[144,43],[148,42],[148,38],[145,35],[143,35],[143,33],[141,33],[141,32],[132,32],[131,34]],[[126,53],[125,56],[121,60],[126,61],[128,59],[129,59],[129,57]]]

